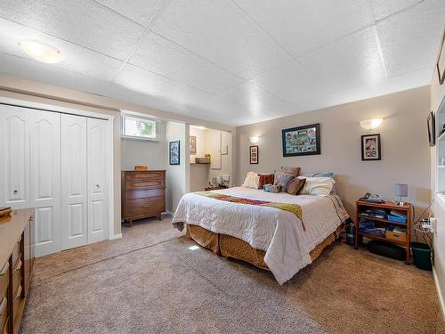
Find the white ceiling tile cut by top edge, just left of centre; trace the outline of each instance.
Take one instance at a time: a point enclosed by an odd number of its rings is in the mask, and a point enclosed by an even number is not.
[[[230,1],[174,0],[153,30],[243,78],[289,60]]]

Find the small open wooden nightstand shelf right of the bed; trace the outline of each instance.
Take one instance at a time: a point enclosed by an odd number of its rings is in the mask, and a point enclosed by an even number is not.
[[[389,213],[391,210],[400,211],[401,213],[404,213],[407,216],[407,223],[405,224],[405,223],[392,222],[385,218],[374,218],[371,216],[361,217],[360,213],[365,210],[368,210],[369,208],[383,208],[387,213]],[[406,238],[406,240],[393,240],[393,239],[388,239],[388,238],[386,238],[384,236],[380,236],[380,235],[359,232],[360,219],[366,219],[368,221],[374,222],[376,224],[376,226],[378,226],[378,227],[386,227],[386,226],[392,225],[392,226],[400,226],[400,227],[406,228],[407,229],[407,238]],[[410,247],[411,220],[412,220],[412,207],[409,203],[405,203],[404,206],[398,206],[398,205],[395,205],[394,203],[392,203],[391,201],[386,201],[384,203],[372,203],[372,202],[367,202],[365,200],[357,200],[357,220],[355,223],[355,248],[356,249],[359,248],[359,245],[360,245],[361,241],[363,240],[363,237],[366,237],[368,239],[373,239],[373,240],[384,240],[384,241],[392,242],[396,245],[406,248],[407,259],[405,261],[405,264],[409,265],[410,248],[411,248]]]

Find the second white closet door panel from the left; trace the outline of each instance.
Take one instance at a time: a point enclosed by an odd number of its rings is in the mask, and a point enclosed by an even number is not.
[[[34,111],[31,124],[31,206],[36,256],[61,250],[61,115]]]

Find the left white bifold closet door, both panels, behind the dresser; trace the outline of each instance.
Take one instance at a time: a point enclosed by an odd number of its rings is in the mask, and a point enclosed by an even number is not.
[[[36,256],[61,250],[60,115],[0,105],[0,205],[36,208]]]

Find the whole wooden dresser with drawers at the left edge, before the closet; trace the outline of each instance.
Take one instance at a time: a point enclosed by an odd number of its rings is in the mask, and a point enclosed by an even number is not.
[[[17,333],[34,262],[34,208],[0,217],[0,333]]]

